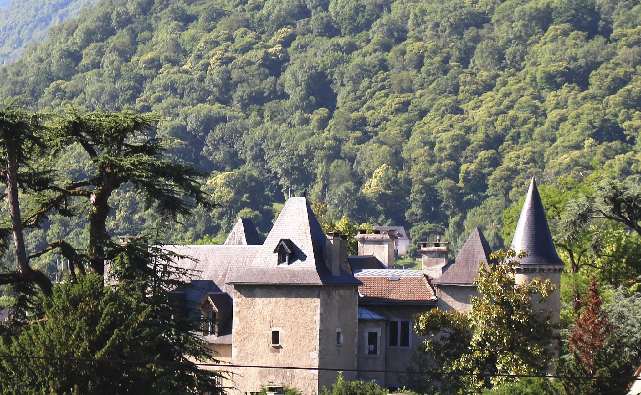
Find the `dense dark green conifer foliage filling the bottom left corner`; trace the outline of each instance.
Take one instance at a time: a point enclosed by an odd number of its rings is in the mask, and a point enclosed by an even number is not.
[[[199,322],[176,314],[174,291],[185,284],[174,279],[185,273],[170,260],[165,251],[132,242],[112,261],[117,286],[105,287],[97,274],[58,284],[50,298],[37,297],[28,324],[0,337],[4,355],[158,364],[3,358],[3,393],[220,393],[221,373],[194,365],[210,355],[193,334]]]

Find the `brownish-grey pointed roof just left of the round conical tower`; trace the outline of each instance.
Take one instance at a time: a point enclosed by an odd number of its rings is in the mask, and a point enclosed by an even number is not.
[[[453,262],[443,267],[443,274],[433,281],[435,284],[456,284],[469,285],[474,282],[479,272],[479,264],[486,265],[490,262],[490,244],[488,244],[483,232],[478,226],[474,227],[472,233],[463,244],[461,251],[454,258]]]

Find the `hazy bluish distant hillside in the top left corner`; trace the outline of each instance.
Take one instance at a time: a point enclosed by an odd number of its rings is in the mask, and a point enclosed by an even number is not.
[[[78,16],[96,0],[0,0],[0,65],[13,62],[32,42],[44,40],[47,29]]]

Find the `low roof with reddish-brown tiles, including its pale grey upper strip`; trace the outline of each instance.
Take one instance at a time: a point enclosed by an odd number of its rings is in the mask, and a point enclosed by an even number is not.
[[[417,270],[361,271],[354,276],[363,283],[358,287],[358,303],[364,305],[433,305],[437,299],[427,278]]]

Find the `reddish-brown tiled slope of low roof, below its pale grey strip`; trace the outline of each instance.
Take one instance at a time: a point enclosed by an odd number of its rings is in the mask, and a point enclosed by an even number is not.
[[[432,304],[436,295],[424,276],[411,277],[374,277],[358,276],[363,285],[358,292],[363,295],[361,303],[372,304]],[[394,280],[390,280],[394,279]]]

